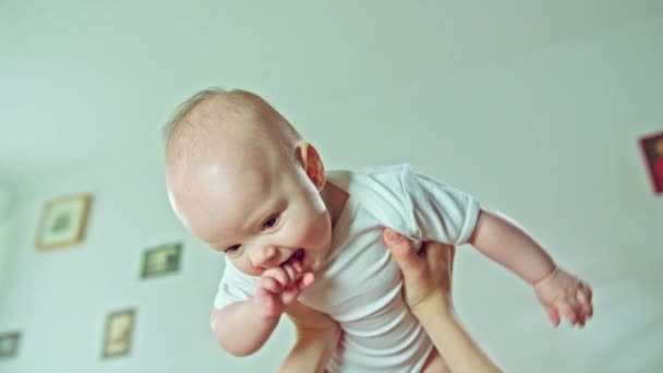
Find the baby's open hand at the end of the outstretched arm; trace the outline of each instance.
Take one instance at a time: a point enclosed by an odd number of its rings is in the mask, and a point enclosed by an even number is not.
[[[559,267],[534,284],[534,291],[555,326],[560,315],[571,325],[583,326],[593,314],[590,287]]]

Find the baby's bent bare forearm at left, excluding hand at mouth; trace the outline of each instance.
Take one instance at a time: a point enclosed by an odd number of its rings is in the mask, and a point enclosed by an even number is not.
[[[212,313],[212,330],[221,347],[234,356],[257,351],[274,332],[278,317],[267,317],[253,300],[228,304]]]

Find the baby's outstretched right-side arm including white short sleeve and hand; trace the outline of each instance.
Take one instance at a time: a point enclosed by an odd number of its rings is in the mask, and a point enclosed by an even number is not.
[[[408,218],[412,221],[412,237],[448,244],[469,241],[533,285],[555,325],[559,324],[559,314],[580,325],[592,315],[590,288],[557,267],[545,250],[516,224],[480,209],[469,194],[409,168],[403,168],[400,178],[408,197],[403,210],[413,213],[406,216],[406,221]]]

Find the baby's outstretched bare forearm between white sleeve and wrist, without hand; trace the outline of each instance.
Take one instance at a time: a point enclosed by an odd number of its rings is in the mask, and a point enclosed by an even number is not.
[[[470,243],[530,284],[545,278],[555,263],[522,228],[505,216],[481,210]]]

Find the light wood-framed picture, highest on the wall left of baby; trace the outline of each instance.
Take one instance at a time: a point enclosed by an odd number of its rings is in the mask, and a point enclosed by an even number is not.
[[[62,248],[81,242],[92,204],[89,194],[70,195],[46,204],[37,229],[37,248]]]

